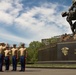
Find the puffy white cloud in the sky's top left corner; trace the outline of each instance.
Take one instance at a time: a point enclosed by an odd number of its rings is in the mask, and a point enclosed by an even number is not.
[[[22,4],[19,0],[0,0],[0,22],[12,25],[21,10]]]

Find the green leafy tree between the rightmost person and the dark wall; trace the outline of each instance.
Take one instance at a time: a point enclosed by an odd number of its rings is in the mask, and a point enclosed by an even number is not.
[[[39,41],[31,42],[29,44],[29,47],[27,48],[28,51],[27,62],[35,63],[38,60],[38,50],[43,46],[44,44],[42,44]]]

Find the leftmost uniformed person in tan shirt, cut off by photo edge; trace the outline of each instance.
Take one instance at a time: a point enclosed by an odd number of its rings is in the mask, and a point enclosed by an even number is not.
[[[2,71],[2,67],[3,67],[3,59],[4,59],[4,49],[6,48],[6,45],[4,43],[0,43],[0,72]]]

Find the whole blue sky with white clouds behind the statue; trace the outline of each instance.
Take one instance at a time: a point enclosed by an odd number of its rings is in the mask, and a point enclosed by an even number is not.
[[[71,34],[66,18],[72,0],[0,0],[0,42],[25,43]]]

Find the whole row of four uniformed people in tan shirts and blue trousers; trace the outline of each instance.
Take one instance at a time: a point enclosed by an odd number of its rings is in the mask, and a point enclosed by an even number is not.
[[[13,44],[13,47],[9,47],[8,44],[0,43],[0,72],[3,72],[3,61],[5,61],[5,70],[9,70],[10,64],[10,54],[12,56],[12,70],[17,70],[17,59],[20,58],[21,70],[20,72],[25,71],[25,61],[27,58],[27,50],[25,44],[21,44],[20,47],[16,47],[16,44]]]

